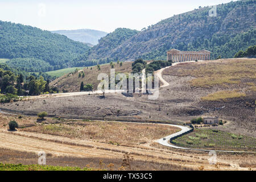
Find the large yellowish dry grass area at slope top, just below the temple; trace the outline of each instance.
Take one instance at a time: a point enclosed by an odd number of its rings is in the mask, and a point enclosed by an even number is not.
[[[176,76],[196,77],[192,86],[209,88],[214,85],[240,84],[242,78],[255,79],[256,59],[217,60],[205,63],[183,64]],[[170,75],[165,71],[165,75]],[[172,72],[169,70],[169,72]],[[173,75],[173,74],[172,74]]]

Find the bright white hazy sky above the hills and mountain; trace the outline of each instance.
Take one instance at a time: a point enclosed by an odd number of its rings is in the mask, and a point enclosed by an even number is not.
[[[230,0],[0,0],[0,20],[43,30],[141,30],[174,14]]]

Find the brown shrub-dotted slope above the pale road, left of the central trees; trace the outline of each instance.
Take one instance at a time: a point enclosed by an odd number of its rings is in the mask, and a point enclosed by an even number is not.
[[[131,63],[132,62],[123,62],[122,67],[120,67],[117,63],[114,63],[115,72],[119,73],[129,73],[131,72]],[[97,89],[97,86],[100,81],[97,80],[97,77],[100,73],[107,73],[110,75],[110,68],[109,64],[100,65],[100,71],[98,70],[97,66],[90,68],[84,68],[83,71],[85,73],[85,77],[79,77],[79,72],[67,74],[56,80],[51,82],[51,86],[57,86],[59,90],[68,90],[68,92],[79,92],[80,91],[80,84],[83,81],[85,84],[92,84],[93,90]]]

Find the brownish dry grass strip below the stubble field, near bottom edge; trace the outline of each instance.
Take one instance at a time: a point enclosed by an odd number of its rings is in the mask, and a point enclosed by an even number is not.
[[[179,171],[179,170],[192,170],[192,168],[185,167],[179,164],[170,163],[159,163],[144,160],[133,160],[130,158],[130,167],[121,168],[125,156],[119,156],[118,158],[75,158],[75,157],[53,157],[51,155],[46,156],[47,165],[51,166],[63,166],[63,167],[89,167],[105,170],[121,170],[130,168],[132,170],[166,170],[166,171]],[[16,150],[9,150],[6,148],[0,148],[0,162],[2,163],[13,163],[13,164],[37,164],[38,155],[34,152],[21,152]]]

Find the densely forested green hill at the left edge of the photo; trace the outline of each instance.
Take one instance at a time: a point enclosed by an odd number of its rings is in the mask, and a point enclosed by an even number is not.
[[[40,71],[74,67],[74,59],[89,50],[83,43],[39,28],[2,21],[0,27],[0,57],[21,58],[11,63],[6,61],[11,67],[24,68],[28,67],[27,64],[34,67],[32,63],[35,62],[39,62],[36,63],[38,65],[46,64],[46,70]],[[36,69],[40,67],[36,66]]]

